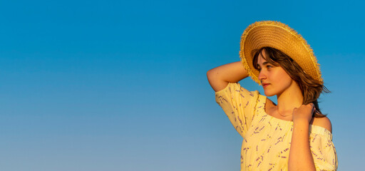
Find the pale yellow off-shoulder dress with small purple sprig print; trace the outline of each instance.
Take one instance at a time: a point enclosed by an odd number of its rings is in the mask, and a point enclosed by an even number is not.
[[[239,83],[215,93],[215,100],[242,135],[241,170],[288,170],[293,122],[265,113],[266,96]],[[309,125],[309,146],[317,170],[336,170],[336,149],[329,130]]]

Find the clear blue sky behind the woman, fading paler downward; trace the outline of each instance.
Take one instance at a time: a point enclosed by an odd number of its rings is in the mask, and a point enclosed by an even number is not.
[[[361,170],[362,1],[1,1],[1,170],[240,170],[206,79],[255,21],[296,29],[325,85],[339,170]],[[251,80],[248,90],[260,90]]]

